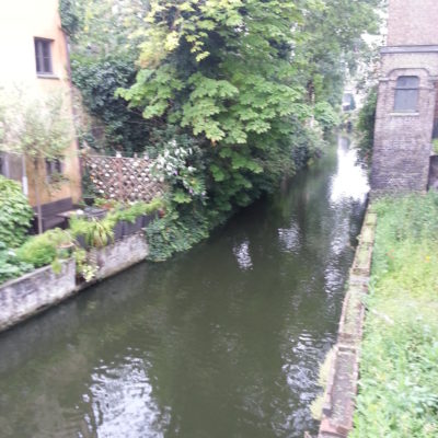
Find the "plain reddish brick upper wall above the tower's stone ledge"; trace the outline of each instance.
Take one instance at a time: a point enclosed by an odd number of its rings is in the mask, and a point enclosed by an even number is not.
[[[438,44],[437,0],[390,0],[388,45]]]

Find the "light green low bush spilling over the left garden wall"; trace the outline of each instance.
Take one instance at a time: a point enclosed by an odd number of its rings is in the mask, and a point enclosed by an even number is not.
[[[72,237],[68,231],[56,228],[28,239],[16,251],[21,262],[42,267],[69,256]]]

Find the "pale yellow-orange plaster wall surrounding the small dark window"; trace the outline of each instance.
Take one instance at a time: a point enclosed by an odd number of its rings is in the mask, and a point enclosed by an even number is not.
[[[53,77],[36,73],[34,37],[51,39]],[[58,0],[0,0],[0,87],[19,87],[32,94],[61,92],[71,107],[66,38],[60,27]],[[72,127],[73,129],[73,127]],[[31,185],[33,166],[27,165],[30,200],[35,204]],[[80,197],[80,170],[76,141],[66,151],[64,173],[68,177],[59,191],[39,184],[42,201]]]

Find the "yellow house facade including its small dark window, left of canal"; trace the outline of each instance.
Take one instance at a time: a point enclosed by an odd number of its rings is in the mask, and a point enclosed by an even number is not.
[[[69,58],[66,36],[61,30],[58,0],[0,1],[0,89],[19,89],[24,94],[62,96],[66,111],[73,117],[68,74]],[[37,99],[37,97],[36,97]],[[32,163],[12,153],[1,154],[0,172],[23,183],[31,204],[35,203]],[[80,166],[76,140],[60,162],[39,163],[43,175],[38,184],[43,204],[80,197]],[[61,173],[62,182],[50,187],[50,174]],[[28,187],[26,186],[28,181]]]

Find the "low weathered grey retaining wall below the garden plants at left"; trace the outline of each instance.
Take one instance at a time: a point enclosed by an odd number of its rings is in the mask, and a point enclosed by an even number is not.
[[[93,281],[77,284],[76,264],[70,260],[62,263],[59,274],[46,266],[0,286],[0,332],[143,261],[149,247],[140,232],[92,251],[99,265]]]

